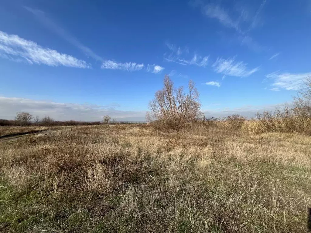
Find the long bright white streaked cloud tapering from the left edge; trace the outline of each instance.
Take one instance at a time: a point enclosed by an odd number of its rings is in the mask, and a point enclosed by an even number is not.
[[[83,60],[58,53],[53,49],[43,48],[33,41],[2,31],[0,31],[0,56],[17,62],[26,61],[30,64],[91,68],[91,65]]]

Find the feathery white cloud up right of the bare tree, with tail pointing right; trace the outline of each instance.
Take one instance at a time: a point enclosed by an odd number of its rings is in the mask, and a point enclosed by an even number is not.
[[[247,77],[259,70],[259,67],[248,70],[246,65],[247,64],[242,61],[235,62],[235,58],[228,58],[225,60],[218,57],[212,66],[214,67],[214,71],[222,73],[224,76]]]

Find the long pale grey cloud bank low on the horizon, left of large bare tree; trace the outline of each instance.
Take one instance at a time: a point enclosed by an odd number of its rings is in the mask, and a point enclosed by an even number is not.
[[[146,111],[122,111],[116,103],[107,105],[55,103],[26,98],[0,97],[0,119],[14,119],[16,112],[29,112],[33,116],[49,115],[55,120],[101,121],[102,117],[123,121],[145,121]]]

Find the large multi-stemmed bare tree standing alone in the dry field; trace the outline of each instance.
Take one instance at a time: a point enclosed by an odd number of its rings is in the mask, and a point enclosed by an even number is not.
[[[157,121],[164,129],[179,130],[185,123],[193,122],[201,116],[199,93],[192,80],[188,84],[188,93],[183,87],[174,89],[168,75],[164,78],[164,87],[149,102],[147,121]]]

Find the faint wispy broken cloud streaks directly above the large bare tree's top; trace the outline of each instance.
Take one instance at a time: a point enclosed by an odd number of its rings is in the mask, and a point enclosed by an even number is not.
[[[187,47],[181,49],[180,47],[176,47],[174,44],[170,44],[167,42],[165,43],[165,45],[167,46],[167,48],[169,48],[170,52],[169,53],[166,52],[163,58],[168,62],[176,62],[183,66],[196,65],[201,67],[206,67],[208,64],[209,56],[201,57],[197,55],[197,53],[194,53],[193,57],[189,58],[188,56],[189,49]]]

